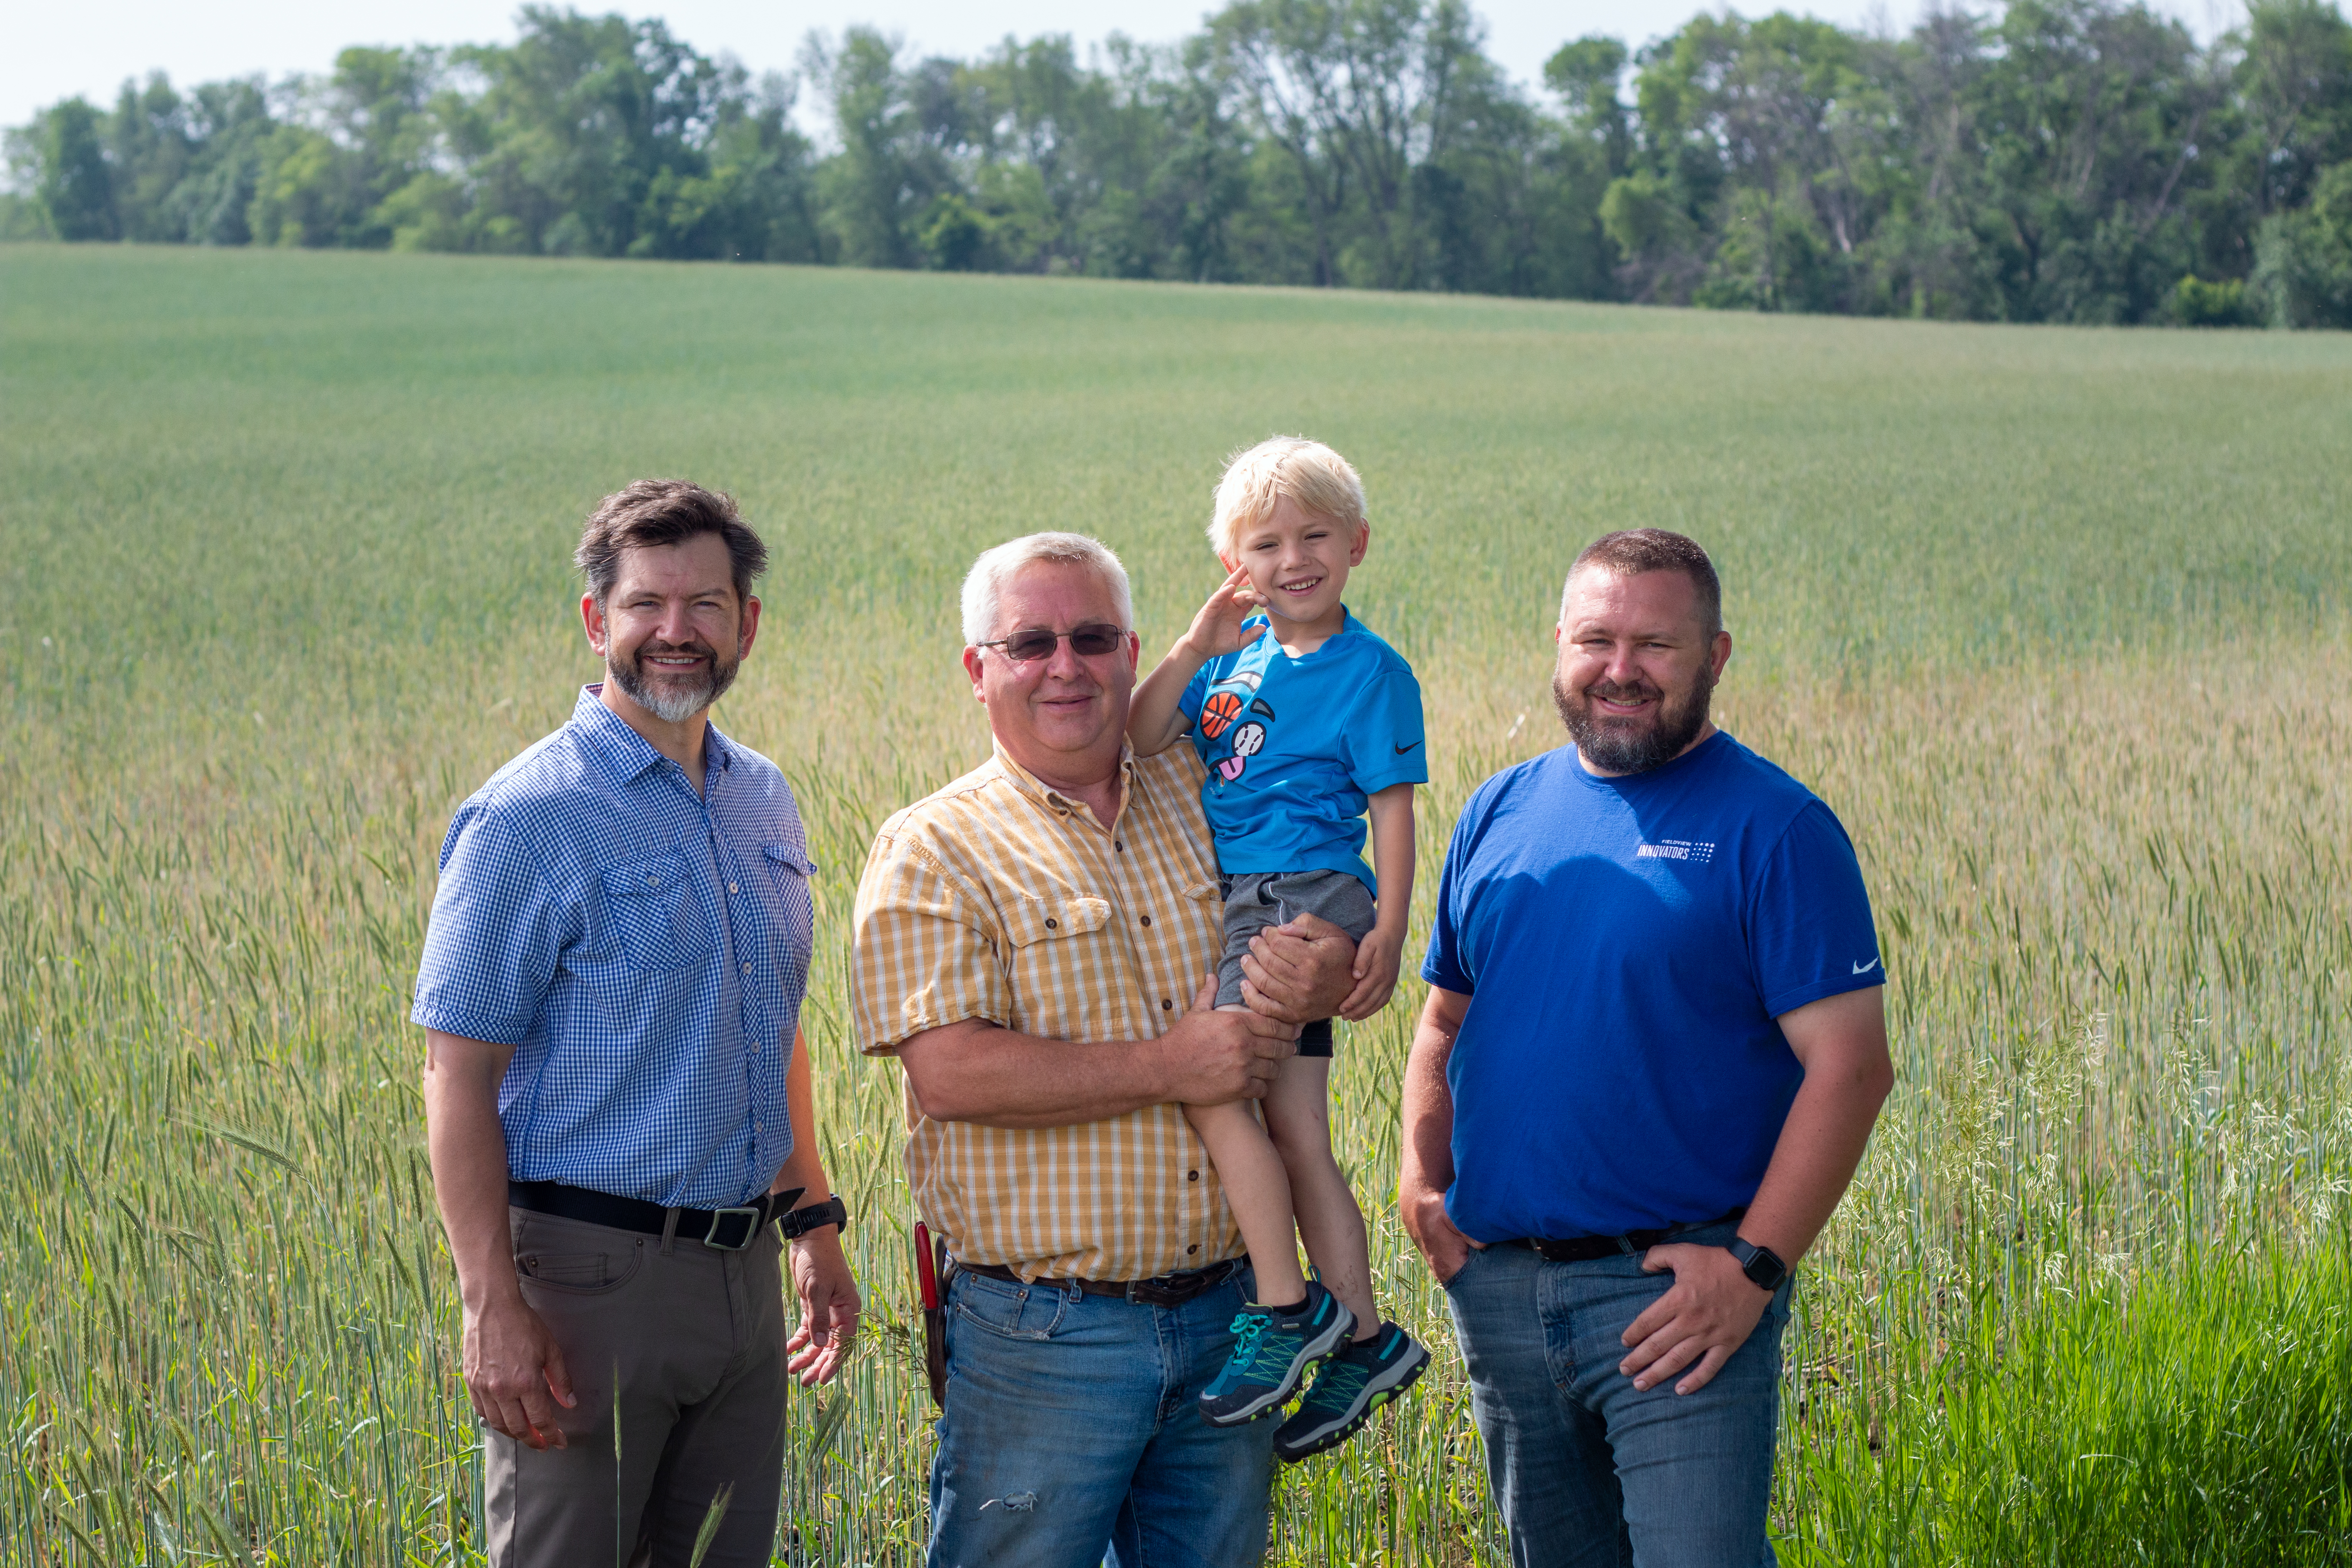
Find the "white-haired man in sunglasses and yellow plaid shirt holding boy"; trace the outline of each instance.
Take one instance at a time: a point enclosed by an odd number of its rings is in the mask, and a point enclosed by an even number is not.
[[[1352,945],[1303,919],[1214,1011],[1221,898],[1192,748],[1127,750],[1127,571],[1077,534],[981,555],[964,672],[995,755],[882,825],[858,1044],[906,1067],[908,1180],[950,1239],[934,1566],[1228,1566],[1265,1549],[1272,1427],[1200,1392],[1251,1298],[1183,1105],[1263,1098]]]

